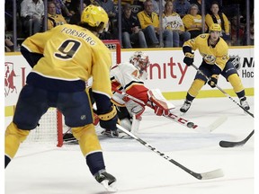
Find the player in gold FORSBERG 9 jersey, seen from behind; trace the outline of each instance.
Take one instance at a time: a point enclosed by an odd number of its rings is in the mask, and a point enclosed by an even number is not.
[[[111,103],[112,55],[98,38],[108,22],[108,15],[101,6],[89,5],[83,10],[79,25],[60,25],[24,40],[22,56],[32,70],[20,93],[13,121],[5,131],[5,167],[30,130],[36,128],[41,116],[49,107],[57,107],[66,125],[72,128],[96,181],[106,190],[114,189],[116,179],[105,171],[102,148],[93,124],[92,104],[85,93],[85,81],[93,76],[92,89],[100,125],[117,130],[117,111]]]

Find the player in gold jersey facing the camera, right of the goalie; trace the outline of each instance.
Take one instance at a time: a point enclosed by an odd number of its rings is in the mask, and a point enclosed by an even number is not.
[[[183,62],[187,66],[192,66],[194,54],[192,50],[198,49],[202,56],[202,62],[199,69],[204,75],[210,77],[208,84],[212,88],[218,83],[219,75],[224,76],[227,81],[232,85],[235,93],[240,100],[241,106],[246,110],[249,110],[249,105],[246,101],[245,88],[241,82],[240,77],[237,74],[237,69],[228,57],[228,44],[221,37],[221,27],[218,23],[214,23],[210,26],[210,33],[201,34],[195,39],[188,40],[183,44],[183,53],[185,55]],[[195,75],[194,81],[183,103],[181,112],[185,113],[190,109],[193,99],[198,95],[202,86],[206,84],[207,79],[203,75]]]

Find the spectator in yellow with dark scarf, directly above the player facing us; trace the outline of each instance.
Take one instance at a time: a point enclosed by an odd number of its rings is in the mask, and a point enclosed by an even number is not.
[[[205,22],[208,27],[213,23],[219,23],[222,29],[222,38],[230,44],[229,22],[227,16],[219,10],[219,3],[210,4],[210,13],[205,16]]]

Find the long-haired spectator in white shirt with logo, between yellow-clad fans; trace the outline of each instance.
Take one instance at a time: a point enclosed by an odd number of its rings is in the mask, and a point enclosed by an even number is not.
[[[191,34],[184,30],[180,15],[173,10],[173,2],[167,0],[165,3],[165,12],[163,13],[163,30],[169,31],[168,33],[172,36],[173,42],[166,42],[165,40],[165,47],[182,47],[184,41],[190,40]],[[181,45],[180,40],[183,40]]]

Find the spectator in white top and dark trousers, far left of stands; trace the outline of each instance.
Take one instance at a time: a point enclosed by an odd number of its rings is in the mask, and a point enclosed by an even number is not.
[[[23,0],[21,4],[21,17],[24,32],[27,36],[40,32],[41,21],[44,15],[42,0]]]

